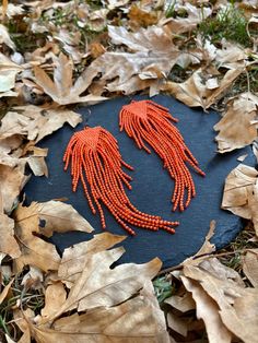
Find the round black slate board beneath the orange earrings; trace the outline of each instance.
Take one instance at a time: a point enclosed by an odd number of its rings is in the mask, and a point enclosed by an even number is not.
[[[146,97],[134,97],[134,99],[143,98]],[[251,166],[255,165],[255,159],[249,147],[226,155],[216,154],[213,126],[220,120],[219,114],[214,111],[206,114],[202,110],[190,109],[169,96],[159,95],[153,100],[168,107],[171,113],[179,119],[177,127],[199,161],[201,168],[207,173],[207,177],[202,178],[192,172],[197,197],[185,212],[173,213],[171,211],[174,182],[163,169],[155,153],[149,155],[144,151],[140,151],[125,132],[119,132],[119,110],[122,105],[130,102],[126,97],[81,108],[79,111],[83,116],[83,122],[80,126],[75,129],[64,126],[42,141],[39,145],[49,149],[47,157],[49,178],[33,176],[25,187],[25,193],[27,203],[68,198],[68,203],[72,204],[93,225],[95,233],[101,233],[99,217],[91,213],[82,189],[80,188],[77,193],[71,192],[71,178],[69,173],[63,172],[62,155],[72,133],[81,130],[85,123],[91,127],[104,127],[117,138],[124,159],[134,167],[134,172],[130,173],[133,177],[132,190],[128,191],[132,203],[146,213],[180,222],[175,235],[163,230],[153,233],[136,228],[137,236],[128,237],[122,243],[126,253],[119,262],[142,263],[159,257],[163,261],[163,268],[166,268],[178,264],[200,248],[211,220],[216,221],[213,241],[218,248],[225,246],[237,235],[242,228],[241,220],[220,209],[224,180],[239,163],[236,159],[238,156],[248,154],[245,163]],[[118,235],[126,234],[107,211],[105,211],[105,216],[109,232]],[[92,235],[83,233],[68,233],[56,234],[51,240],[61,251],[91,237]]]

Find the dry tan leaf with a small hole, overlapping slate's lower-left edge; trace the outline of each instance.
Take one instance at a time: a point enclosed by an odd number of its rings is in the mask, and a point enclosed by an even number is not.
[[[14,212],[15,233],[22,256],[15,259],[15,268],[21,271],[30,264],[43,271],[58,270],[60,257],[54,245],[40,239],[38,236],[50,237],[54,232],[68,230],[91,232],[92,227],[71,206],[58,201],[45,203],[33,202],[28,208],[21,204]],[[44,221],[45,226],[40,226]]]

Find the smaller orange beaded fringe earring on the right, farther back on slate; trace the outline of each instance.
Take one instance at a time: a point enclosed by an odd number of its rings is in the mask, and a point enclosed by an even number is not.
[[[177,208],[184,211],[191,198],[196,196],[195,184],[187,163],[200,175],[204,176],[204,173],[198,167],[197,159],[186,146],[183,135],[172,121],[177,122],[178,120],[172,117],[167,108],[152,100],[132,100],[131,104],[122,106],[119,115],[120,131],[125,129],[139,149],[151,153],[145,145],[146,142],[163,159],[164,168],[175,179],[175,190],[172,197],[173,211]]]

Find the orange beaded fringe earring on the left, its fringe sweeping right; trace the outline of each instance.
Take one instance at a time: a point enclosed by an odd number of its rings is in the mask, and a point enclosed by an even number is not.
[[[175,233],[178,222],[163,221],[136,209],[128,199],[124,185],[131,189],[131,177],[122,166],[133,168],[122,161],[116,139],[102,127],[89,128],[75,132],[63,156],[64,170],[71,163],[72,190],[81,180],[92,212],[98,210],[103,228],[106,227],[102,204],[106,205],[116,221],[131,235],[136,235],[127,223],[151,230],[165,229]],[[87,189],[90,187],[90,191]]]

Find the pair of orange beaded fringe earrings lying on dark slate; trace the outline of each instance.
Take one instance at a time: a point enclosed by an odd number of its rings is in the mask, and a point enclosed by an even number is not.
[[[122,106],[119,114],[120,131],[125,130],[139,149],[151,153],[151,146],[163,161],[164,168],[175,180],[173,210],[184,211],[196,196],[187,164],[198,174],[204,176],[204,173],[173,122],[177,122],[177,119],[172,117],[168,109],[152,100],[132,100],[130,105]],[[124,187],[131,189],[131,177],[122,167],[130,170],[133,168],[122,159],[117,140],[104,128],[86,127],[75,132],[67,146],[63,162],[64,170],[71,164],[72,190],[77,190],[80,180],[91,211],[99,213],[103,228],[106,227],[102,209],[104,204],[131,235],[136,233],[128,224],[175,233],[174,227],[178,222],[143,213],[130,202]]]

